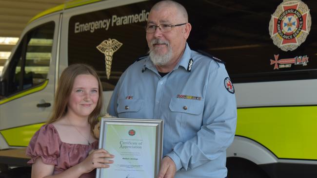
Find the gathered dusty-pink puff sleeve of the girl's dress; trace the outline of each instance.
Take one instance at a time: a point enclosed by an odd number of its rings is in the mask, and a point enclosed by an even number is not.
[[[41,158],[45,164],[57,165],[59,157],[59,135],[53,125],[43,125],[32,137],[26,155],[31,157],[27,163],[33,164]]]

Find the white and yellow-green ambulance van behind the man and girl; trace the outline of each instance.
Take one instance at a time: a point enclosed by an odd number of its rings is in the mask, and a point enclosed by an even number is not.
[[[317,177],[317,1],[177,1],[193,26],[189,46],[226,62],[234,83],[228,178]],[[75,0],[29,22],[0,78],[2,172],[26,166],[11,151],[49,118],[68,65],[98,71],[107,106],[122,72],[148,51],[144,26],[154,3]]]

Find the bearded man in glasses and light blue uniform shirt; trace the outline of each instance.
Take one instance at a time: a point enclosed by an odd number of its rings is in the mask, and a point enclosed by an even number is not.
[[[237,122],[234,88],[220,60],[190,50],[190,31],[182,5],[155,4],[146,25],[149,56],[122,74],[108,112],[164,120],[158,178],[225,178]]]

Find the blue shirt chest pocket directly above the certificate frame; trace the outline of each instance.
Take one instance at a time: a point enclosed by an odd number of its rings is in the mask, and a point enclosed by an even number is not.
[[[137,114],[143,107],[144,100],[141,99],[119,99],[117,111],[121,118],[138,118]]]

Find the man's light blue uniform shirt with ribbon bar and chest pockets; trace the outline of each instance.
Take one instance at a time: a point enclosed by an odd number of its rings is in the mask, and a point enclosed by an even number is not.
[[[107,111],[120,118],[163,119],[163,156],[174,160],[176,178],[227,176],[226,148],[237,124],[234,89],[222,63],[188,44],[164,77],[149,56],[132,64],[120,77]]]

